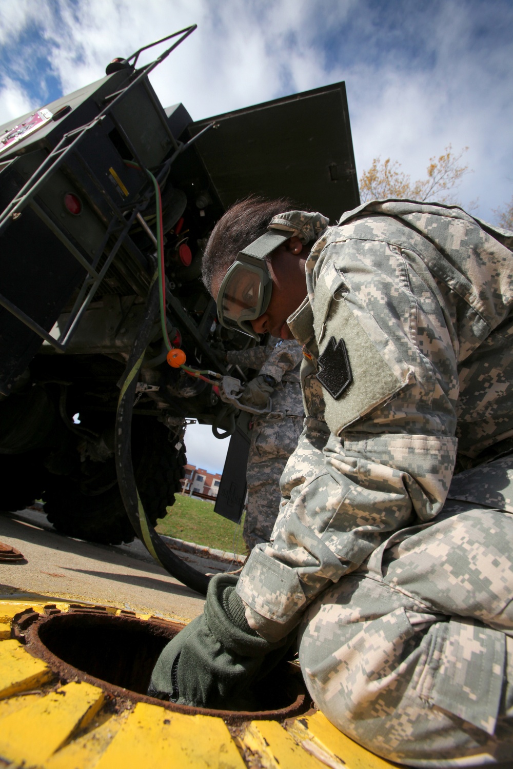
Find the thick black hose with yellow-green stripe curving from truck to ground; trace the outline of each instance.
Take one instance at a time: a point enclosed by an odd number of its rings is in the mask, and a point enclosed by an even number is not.
[[[135,484],[134,468],[132,465],[132,411],[134,408],[135,390],[139,378],[139,370],[145,355],[145,349],[150,341],[158,314],[158,283],[154,281],[146,302],[145,315],[135,335],[130,356],[122,379],[118,382],[121,394],[118,401],[115,428],[115,460],[118,475],[119,491],[134,528],[135,534],[145,544],[155,561],[160,564],[172,577],[186,584],[188,588],[205,595],[210,578],[189,566],[182,558],[178,558],[158,536],[155,528],[148,520],[142,501],[139,498]]]

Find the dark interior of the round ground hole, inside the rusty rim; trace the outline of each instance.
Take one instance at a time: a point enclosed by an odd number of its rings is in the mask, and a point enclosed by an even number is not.
[[[78,677],[86,681],[99,679],[96,683],[105,682],[103,688],[110,688],[115,696],[120,692],[113,687],[121,687],[128,690],[122,692],[125,697],[140,700],[148,691],[158,655],[182,627],[172,622],[143,621],[107,612],[69,612],[44,617],[32,625],[28,647],[62,677]],[[289,717],[305,710],[301,675],[287,662],[271,671],[253,694],[255,711],[265,712],[266,717],[273,717],[273,714]],[[189,710],[173,704],[167,707]],[[229,703],[226,710],[230,710]],[[212,712],[222,714],[225,711]],[[258,717],[256,712],[253,717]]]

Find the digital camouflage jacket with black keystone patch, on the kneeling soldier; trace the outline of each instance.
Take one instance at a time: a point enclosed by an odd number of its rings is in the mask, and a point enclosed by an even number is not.
[[[301,213],[287,217],[293,231]],[[288,318],[304,345],[305,430],[274,540],[237,588],[264,638],[394,531],[435,518],[457,453],[468,468],[513,436],[511,236],[456,206],[374,201],[315,242],[308,297]],[[465,498],[457,480],[451,498]]]

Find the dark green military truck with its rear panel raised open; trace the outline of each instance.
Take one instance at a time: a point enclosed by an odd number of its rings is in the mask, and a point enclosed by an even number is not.
[[[218,506],[242,509],[247,422],[198,373],[228,375],[216,352],[253,343],[200,279],[218,218],[252,193],[332,221],[358,205],[343,83],[197,122],[162,107],[148,75],[193,29],[0,127],[0,508],[43,498],[58,531],[96,542],[148,539],[188,419],[232,435]]]

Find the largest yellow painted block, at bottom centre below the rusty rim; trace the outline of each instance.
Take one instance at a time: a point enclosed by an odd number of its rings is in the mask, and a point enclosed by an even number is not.
[[[245,769],[221,718],[138,703],[95,769]]]

